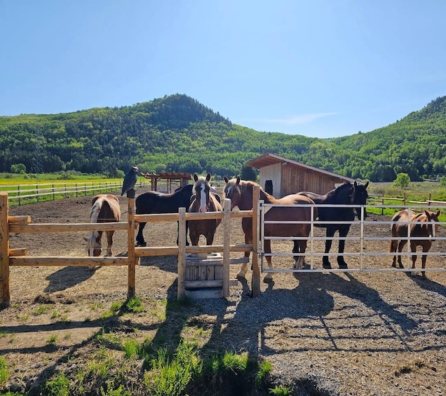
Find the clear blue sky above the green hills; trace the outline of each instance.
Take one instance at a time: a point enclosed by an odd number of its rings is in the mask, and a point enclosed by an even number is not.
[[[446,95],[443,0],[0,0],[0,116],[184,93],[233,123],[369,132]]]

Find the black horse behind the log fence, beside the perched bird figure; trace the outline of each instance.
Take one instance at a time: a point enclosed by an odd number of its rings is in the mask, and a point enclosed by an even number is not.
[[[180,207],[185,207],[186,210],[191,204],[192,187],[193,184],[186,184],[186,186],[179,187],[173,193],[159,193],[158,191],[147,191],[137,196],[135,200],[136,214],[154,214],[154,213],[178,213]],[[189,221],[186,221],[186,244],[187,242],[187,228]],[[147,246],[142,235],[142,230],[146,223],[140,223],[138,233],[136,235],[137,246]],[[177,237],[178,244],[178,237]]]

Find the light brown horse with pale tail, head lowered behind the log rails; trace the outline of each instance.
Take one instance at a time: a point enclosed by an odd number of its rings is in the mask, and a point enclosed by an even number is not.
[[[112,194],[98,194],[91,202],[90,223],[112,223],[121,219],[119,199]],[[112,256],[114,231],[105,231],[107,235],[107,254]],[[102,252],[102,231],[91,231],[86,238],[88,256],[98,257]],[[94,267],[89,266],[90,270]]]

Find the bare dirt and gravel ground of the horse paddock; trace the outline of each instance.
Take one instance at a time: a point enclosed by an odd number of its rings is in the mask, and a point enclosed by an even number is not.
[[[10,214],[29,214],[36,223],[85,222],[91,198],[11,207]],[[127,200],[120,197],[120,202],[126,221]],[[240,221],[233,221],[231,243],[243,243]],[[148,224],[144,236],[149,245],[175,245],[176,227]],[[383,236],[388,230],[377,224],[366,232]],[[353,226],[349,235],[357,233]],[[445,233],[440,229],[440,235]],[[86,255],[86,236],[11,235],[11,247],[27,247],[33,256]],[[215,243],[222,243],[220,228]],[[444,245],[436,241],[432,251],[446,252]],[[126,246],[126,233],[116,232],[114,254],[126,254]],[[387,252],[388,243],[367,241],[363,248]],[[291,245],[275,243],[273,251],[279,249],[289,252]],[[357,241],[347,241],[347,252],[358,249]],[[322,243],[314,250],[322,252]],[[366,267],[391,266],[391,257],[367,260]],[[314,259],[315,268],[321,261]],[[337,268],[336,258],[330,261]],[[346,261],[350,268],[359,267],[358,257]],[[292,268],[293,261],[273,257],[273,264]],[[445,256],[428,257],[427,266],[445,268]],[[231,266],[231,278],[239,268]],[[108,331],[142,341],[156,339],[162,329],[172,337],[196,339],[203,350],[248,352],[272,362],[274,381],[294,386],[295,395],[446,395],[445,272],[428,272],[426,279],[420,273],[277,273],[273,282],[262,282],[261,296],[252,299],[248,271],[245,281],[231,286],[229,299],[196,300],[182,308],[182,315],[171,315],[176,272],[176,257],[143,258],[136,268],[136,294],[145,310],[116,318]],[[94,356],[100,345],[93,336],[107,329],[104,312],[125,301],[127,293],[125,267],[93,272],[13,267],[10,278],[11,307],[0,312],[0,354],[11,367],[5,390],[32,391],[54,371],[74,370]],[[50,342],[51,336],[57,341]]]

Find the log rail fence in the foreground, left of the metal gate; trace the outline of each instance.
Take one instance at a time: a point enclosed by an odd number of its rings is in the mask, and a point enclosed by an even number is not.
[[[259,200],[259,189],[255,189],[253,201]],[[0,191],[0,306],[9,306],[11,302],[9,275],[11,266],[128,266],[128,299],[135,296],[135,266],[140,264],[140,257],[163,256],[176,254],[178,256],[179,279],[178,297],[184,295],[184,266],[186,254],[203,252],[222,252],[224,271],[227,280],[224,280],[223,295],[229,295],[229,253],[230,252],[257,252],[257,241],[252,245],[231,245],[230,225],[231,218],[252,217],[253,230],[257,230],[257,205],[255,210],[240,212],[230,211],[230,201],[225,200],[224,212],[187,213],[180,208],[180,213],[172,214],[135,214],[135,199],[128,196],[128,221],[119,223],[79,223],[79,224],[33,224],[29,216],[8,215],[8,194]],[[135,247],[135,224],[137,222],[151,221],[179,221],[180,229],[185,230],[186,221],[198,219],[222,219],[226,230],[224,244],[212,246],[186,246],[186,233],[179,233],[178,246],[170,247]],[[29,257],[26,247],[18,249],[9,248],[10,233],[61,233],[84,231],[119,231],[128,232],[127,257]],[[257,231],[255,231],[257,232]],[[255,233],[253,235],[256,235]],[[260,273],[258,256],[252,256],[252,296],[260,294]]]

